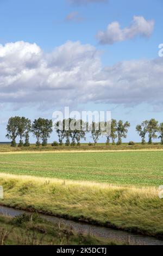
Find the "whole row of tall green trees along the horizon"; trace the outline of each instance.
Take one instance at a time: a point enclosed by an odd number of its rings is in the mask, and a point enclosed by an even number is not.
[[[73,129],[72,129],[73,125]],[[105,123],[105,127],[106,127]],[[97,129],[98,126],[98,129]],[[57,132],[59,138],[59,144],[64,143],[66,145],[80,145],[81,139],[86,140],[86,133],[90,132],[93,142],[97,144],[101,136],[106,136],[106,144],[110,141],[112,144],[121,145],[122,138],[127,138],[128,129],[130,123],[122,120],[111,120],[111,132],[108,134],[102,129],[102,123],[88,124],[83,120],[64,119],[58,121],[53,127],[53,122],[50,119],[39,118],[35,119],[32,123],[31,120],[25,117],[11,117],[7,125],[8,139],[11,139],[11,146],[16,147],[16,138],[20,137],[19,147],[29,147],[29,134],[32,133],[36,138],[36,146],[39,147],[47,145],[48,138],[50,138],[53,129]],[[83,129],[84,128],[84,129]],[[152,144],[152,139],[161,138],[161,144],[163,144],[163,123],[159,124],[155,119],[143,121],[140,125],[136,126],[136,131],[139,133],[142,144],[146,143],[146,135],[148,134],[148,143]],[[159,133],[159,136],[158,134]],[[115,142],[117,139],[117,142]],[[55,144],[55,143],[54,143]]]

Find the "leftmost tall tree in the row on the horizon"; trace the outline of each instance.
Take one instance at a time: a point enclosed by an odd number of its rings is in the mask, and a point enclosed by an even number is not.
[[[18,123],[20,117],[11,117],[7,124],[7,135],[8,139],[12,139],[11,147],[16,147],[16,137],[18,136]]]

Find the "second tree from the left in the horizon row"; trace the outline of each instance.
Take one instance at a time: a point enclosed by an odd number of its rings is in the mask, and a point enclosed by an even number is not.
[[[27,137],[29,137],[29,131],[30,131],[30,120],[25,117],[19,118],[18,121],[18,136],[20,136],[20,142],[18,144],[18,147],[23,146],[23,140],[22,138],[26,136],[26,143],[27,143]],[[28,138],[29,143],[29,138]]]

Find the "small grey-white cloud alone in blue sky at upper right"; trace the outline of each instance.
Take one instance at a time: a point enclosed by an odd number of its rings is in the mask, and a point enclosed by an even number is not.
[[[144,17],[134,16],[130,27],[121,29],[117,21],[108,25],[106,31],[99,31],[96,35],[100,44],[114,44],[115,42],[130,40],[136,36],[149,37],[154,29],[154,20],[145,20]]]

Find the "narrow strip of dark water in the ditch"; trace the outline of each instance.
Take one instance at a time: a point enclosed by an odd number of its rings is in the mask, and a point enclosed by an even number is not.
[[[0,214],[16,217],[23,213],[29,213],[27,211],[16,210],[5,206],[0,206]],[[103,239],[110,239],[115,242],[127,243],[129,245],[163,245],[162,240],[155,239],[153,237],[136,235],[126,231],[115,230],[111,228],[104,228],[97,225],[85,224],[82,222],[69,221],[64,218],[58,218],[53,216],[47,216],[40,214],[41,218],[46,219],[49,222],[56,224],[63,224],[68,228],[72,228],[73,231],[80,234],[92,235],[95,237],[102,237]]]

